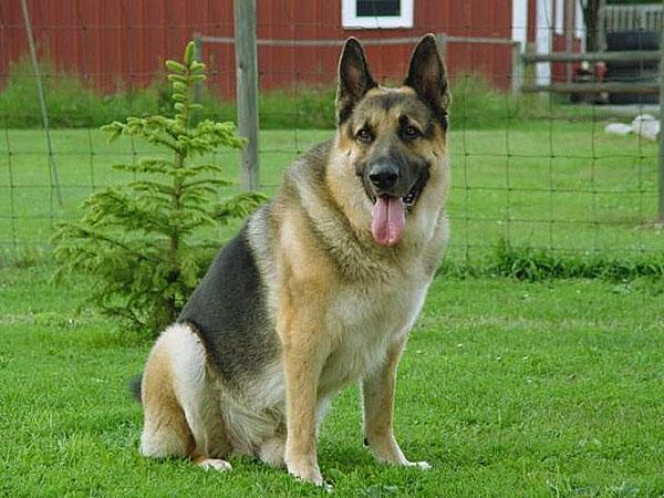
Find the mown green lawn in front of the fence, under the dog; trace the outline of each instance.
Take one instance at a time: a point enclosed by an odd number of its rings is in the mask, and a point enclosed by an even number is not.
[[[231,474],[138,454],[127,381],[149,344],[73,308],[89,283],[49,267],[0,269],[3,496],[325,494],[231,458]],[[664,494],[661,280],[435,280],[400,369],[396,434],[428,473],[362,446],[355,388],[320,437],[338,496]]]

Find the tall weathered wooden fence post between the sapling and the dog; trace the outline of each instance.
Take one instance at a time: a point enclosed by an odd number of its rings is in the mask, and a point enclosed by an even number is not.
[[[238,132],[248,139],[241,154],[242,187],[258,190],[258,51],[256,0],[235,0]]]

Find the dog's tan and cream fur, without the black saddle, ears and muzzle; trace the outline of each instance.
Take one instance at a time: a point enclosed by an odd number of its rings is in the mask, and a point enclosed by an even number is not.
[[[416,98],[411,87],[376,87],[366,98],[386,92]],[[363,117],[394,144],[395,123],[408,113],[375,106]],[[448,237],[445,133],[436,124],[427,139],[400,145],[432,167],[403,239],[382,247],[372,238],[372,200],[354,168],[366,147],[351,139],[349,126],[339,127],[325,158],[308,159],[325,162],[319,176],[313,164],[297,162],[272,204],[247,226],[279,359],[241,390],[230,388],[188,325],[167,329],[144,374],[145,455],[187,456],[225,470],[230,465],[221,458],[247,454],[322,484],[318,426],[330,400],[361,382],[365,436],[376,458],[427,468],[401,450],[393,409],[398,361]]]

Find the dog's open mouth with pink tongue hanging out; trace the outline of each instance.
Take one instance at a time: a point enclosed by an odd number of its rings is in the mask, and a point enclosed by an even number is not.
[[[378,245],[392,247],[401,241],[406,228],[406,211],[411,211],[417,204],[426,180],[427,177],[422,175],[408,194],[403,197],[373,196],[371,231]]]

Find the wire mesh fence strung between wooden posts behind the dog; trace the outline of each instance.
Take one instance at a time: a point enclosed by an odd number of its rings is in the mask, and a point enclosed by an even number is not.
[[[6,255],[48,251],[59,221],[80,216],[91,193],[127,179],[111,169],[113,164],[154,154],[131,141],[107,144],[98,125],[167,112],[160,66],[179,56],[186,40],[203,42],[210,74],[203,101],[210,114],[234,118],[232,2],[158,3],[148,9],[147,2],[71,1],[66,8],[27,2],[51,146],[25,59],[20,1],[0,6],[0,247]],[[374,76],[393,84],[405,75],[413,40],[434,32],[445,41],[453,86],[453,259],[481,258],[500,240],[569,255],[662,251],[658,145],[641,134],[605,133],[609,123],[630,124],[639,114],[656,114],[656,107],[572,105],[569,95],[515,91],[517,79],[539,84],[568,77],[564,63],[539,63],[523,72],[516,64],[522,52],[551,51],[570,37],[581,51],[585,31],[575,2],[531,2],[548,10],[523,13],[507,12],[498,1],[455,9],[454,2],[403,1],[396,3],[413,10],[409,25],[406,19],[403,27],[382,28],[385,15],[369,15],[371,25],[362,29],[353,24],[357,15],[344,14],[351,3],[259,2],[261,189],[273,193],[299,154],[333,136],[335,65],[345,37],[364,41]],[[571,22],[564,21],[572,13],[556,11],[567,4],[577,15]],[[577,74],[579,63],[572,69]],[[228,165],[239,180],[236,152],[220,152],[214,160]]]

